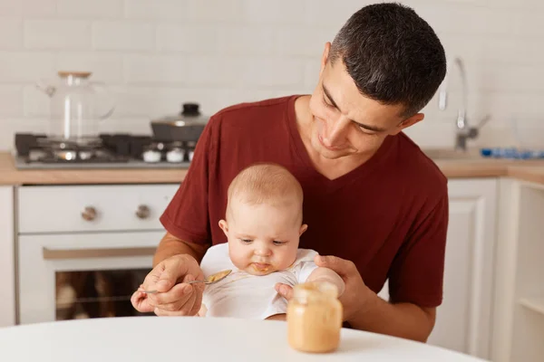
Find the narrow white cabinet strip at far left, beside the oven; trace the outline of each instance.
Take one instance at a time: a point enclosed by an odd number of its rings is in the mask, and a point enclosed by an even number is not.
[[[14,187],[0,186],[0,327],[15,325]]]

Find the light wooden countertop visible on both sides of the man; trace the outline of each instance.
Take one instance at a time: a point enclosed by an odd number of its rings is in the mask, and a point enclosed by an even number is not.
[[[544,185],[544,160],[478,158],[435,163],[448,178],[510,176]],[[186,174],[186,168],[18,170],[12,155],[0,152],[0,185],[177,184]]]

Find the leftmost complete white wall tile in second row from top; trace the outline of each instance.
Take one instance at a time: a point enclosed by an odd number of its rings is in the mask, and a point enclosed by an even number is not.
[[[25,20],[24,46],[29,49],[90,49],[91,23],[80,20]]]

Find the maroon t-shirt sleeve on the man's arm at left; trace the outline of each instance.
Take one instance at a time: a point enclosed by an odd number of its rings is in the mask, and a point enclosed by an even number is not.
[[[210,244],[208,187],[213,162],[213,123],[209,119],[194,150],[187,175],[170,204],[160,216],[160,223],[174,236],[189,243]]]

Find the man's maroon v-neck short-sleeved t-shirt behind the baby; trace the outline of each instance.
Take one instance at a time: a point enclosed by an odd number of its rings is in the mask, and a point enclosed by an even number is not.
[[[199,138],[187,176],[160,222],[181,240],[217,244],[227,189],[256,162],[287,167],[304,190],[300,247],[355,262],[378,292],[389,278],[393,302],[442,302],[448,225],[447,179],[403,133],[385,138],[374,157],[329,180],[312,166],[296,129],[296,96],[219,111]]]

